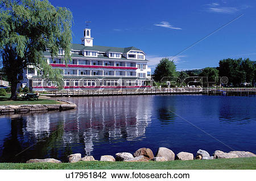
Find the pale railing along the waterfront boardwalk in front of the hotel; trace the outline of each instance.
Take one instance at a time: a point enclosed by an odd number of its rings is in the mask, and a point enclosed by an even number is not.
[[[97,95],[139,95],[139,94],[189,94],[200,93],[201,88],[162,88],[162,89],[100,89],[100,90],[61,90],[47,91],[47,96],[97,96]],[[39,92],[42,93],[42,92]]]

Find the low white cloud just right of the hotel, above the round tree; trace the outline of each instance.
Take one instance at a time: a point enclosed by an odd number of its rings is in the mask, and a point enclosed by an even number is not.
[[[179,64],[181,62],[185,62],[184,60],[182,60],[183,57],[187,57],[187,56],[154,56],[154,55],[148,55],[146,58],[147,60],[149,60],[150,62],[148,62],[148,66],[150,66],[151,68],[155,67],[157,64],[159,64],[160,60],[162,58],[169,58],[169,60],[174,60],[175,64]]]

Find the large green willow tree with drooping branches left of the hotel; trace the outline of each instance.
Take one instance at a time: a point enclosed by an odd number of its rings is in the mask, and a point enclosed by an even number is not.
[[[52,69],[42,53],[49,48],[51,56],[57,56],[62,48],[64,60],[70,59],[71,11],[39,0],[0,0],[0,8],[0,53],[11,83],[11,99],[16,99],[18,77],[28,65],[60,85],[61,71]]]

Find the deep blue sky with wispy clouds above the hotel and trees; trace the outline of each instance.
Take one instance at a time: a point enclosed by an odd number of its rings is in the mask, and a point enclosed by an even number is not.
[[[90,20],[94,45],[134,46],[146,52],[150,65],[175,60],[177,69],[218,66],[224,58],[256,59],[256,1],[67,1],[49,0],[73,13],[73,43],[81,43]],[[230,20],[220,31],[185,50]]]

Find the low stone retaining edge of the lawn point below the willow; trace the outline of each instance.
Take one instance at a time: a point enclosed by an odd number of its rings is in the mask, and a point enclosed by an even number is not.
[[[32,111],[64,111],[76,108],[76,104],[65,100],[59,100],[65,104],[24,104],[0,106],[0,115],[5,113],[24,113]]]

